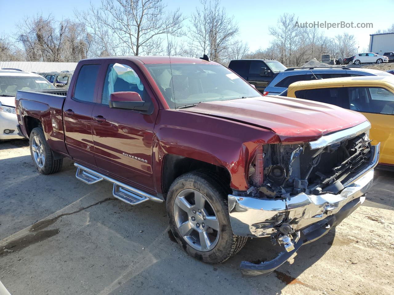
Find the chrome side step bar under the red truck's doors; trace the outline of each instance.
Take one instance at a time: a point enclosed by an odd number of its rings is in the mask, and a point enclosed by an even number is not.
[[[154,195],[148,194],[146,192],[143,192],[142,190],[139,190],[138,188],[134,188],[125,183],[117,181],[112,177],[109,177],[107,175],[94,171],[90,168],[82,166],[77,162],[74,163],[74,166],[77,168],[75,177],[80,181],[83,181],[84,183],[94,184],[94,183],[98,183],[99,181],[102,181],[103,179],[110,183],[113,183],[113,191],[112,191],[113,196],[125,203],[128,203],[130,205],[138,205],[148,200],[157,203],[163,202],[162,199]]]

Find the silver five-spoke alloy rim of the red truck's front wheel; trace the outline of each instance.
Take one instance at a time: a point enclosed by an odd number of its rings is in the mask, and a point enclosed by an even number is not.
[[[178,232],[192,248],[201,252],[214,249],[220,225],[206,196],[197,190],[182,190],[175,198],[174,218]]]

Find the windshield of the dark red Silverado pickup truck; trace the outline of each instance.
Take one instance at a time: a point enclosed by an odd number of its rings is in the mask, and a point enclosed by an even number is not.
[[[145,66],[171,109],[206,101],[261,96],[225,66],[193,63]]]

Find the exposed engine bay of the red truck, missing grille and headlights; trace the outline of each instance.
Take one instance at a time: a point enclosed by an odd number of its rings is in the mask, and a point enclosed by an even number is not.
[[[299,193],[338,193],[352,174],[363,169],[371,153],[367,133],[329,146],[265,144],[249,167],[255,197],[289,198]],[[263,177],[262,177],[263,175]]]

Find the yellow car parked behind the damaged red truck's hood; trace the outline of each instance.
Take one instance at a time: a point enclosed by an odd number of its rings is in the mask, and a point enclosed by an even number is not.
[[[379,164],[394,166],[394,76],[299,81],[289,85],[286,96],[361,112],[371,122],[372,144],[381,142]]]

